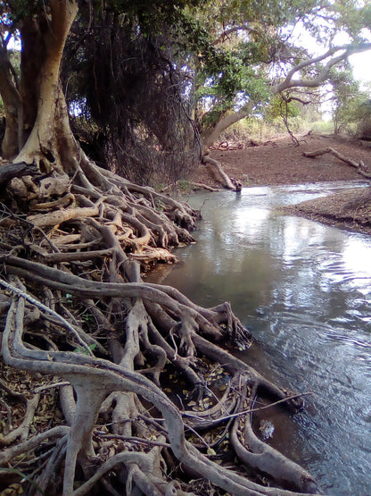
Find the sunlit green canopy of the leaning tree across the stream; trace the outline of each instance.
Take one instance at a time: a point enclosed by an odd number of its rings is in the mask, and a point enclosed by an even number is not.
[[[353,53],[370,49],[370,7],[366,3],[239,4],[242,10],[232,9],[229,21],[221,18],[213,34],[215,43],[226,46],[232,57],[232,70],[226,74],[215,71],[213,77],[208,67],[199,71],[201,77],[204,74],[201,101],[207,102],[207,112],[202,115],[206,146],[220,130],[249,115],[252,109],[259,112],[259,107],[275,95],[286,102],[308,103],[318,98],[339,63]],[[234,84],[227,83],[233,88],[228,93],[223,78],[228,80],[231,74]]]

